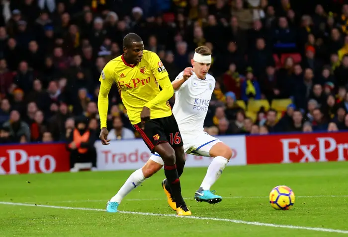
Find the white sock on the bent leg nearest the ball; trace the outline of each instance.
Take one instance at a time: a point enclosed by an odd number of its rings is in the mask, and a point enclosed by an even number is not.
[[[229,160],[222,156],[214,158],[208,167],[207,174],[205,175],[202,184],[200,185],[203,190],[210,189],[210,187],[220,177],[228,162]]]

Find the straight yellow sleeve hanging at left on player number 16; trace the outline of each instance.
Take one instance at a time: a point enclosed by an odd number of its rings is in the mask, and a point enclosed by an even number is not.
[[[101,71],[101,75],[99,77],[100,90],[98,95],[98,112],[100,117],[100,128],[106,127],[107,109],[109,107],[108,94],[114,80],[112,72],[112,65],[108,63]]]

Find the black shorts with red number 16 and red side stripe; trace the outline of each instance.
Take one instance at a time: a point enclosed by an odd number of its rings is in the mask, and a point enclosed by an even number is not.
[[[183,146],[179,127],[177,126],[174,115],[165,118],[150,119],[145,122],[144,130],[141,129],[140,123],[133,126],[139,132],[152,153],[155,152],[155,146],[162,142],[169,142],[173,148]]]

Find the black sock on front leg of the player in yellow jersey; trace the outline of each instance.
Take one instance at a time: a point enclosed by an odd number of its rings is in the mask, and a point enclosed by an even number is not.
[[[166,184],[170,186],[171,194],[174,196],[176,207],[181,206],[185,202],[181,195],[180,179],[177,175],[176,165],[166,166],[165,175],[167,178]],[[166,187],[167,188],[167,187]]]

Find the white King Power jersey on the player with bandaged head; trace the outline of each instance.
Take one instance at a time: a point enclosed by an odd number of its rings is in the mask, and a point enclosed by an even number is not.
[[[180,72],[175,80],[182,77]],[[204,119],[208,112],[211,95],[215,88],[215,78],[206,74],[204,80],[193,73],[181,87],[175,91],[173,114],[181,134],[193,134],[203,131]]]

